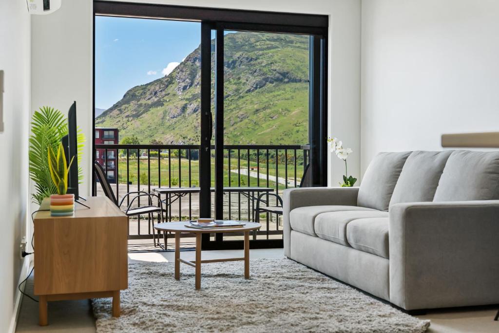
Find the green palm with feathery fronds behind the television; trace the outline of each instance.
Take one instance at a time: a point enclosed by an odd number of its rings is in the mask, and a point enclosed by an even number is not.
[[[57,193],[57,187],[50,176],[48,148],[57,151],[63,136],[67,134],[67,121],[64,115],[54,108],[42,107],[31,118],[29,137],[29,177],[34,182],[33,201],[41,204],[43,198]],[[81,165],[85,136],[78,129],[78,164]],[[83,171],[78,167],[78,179],[83,179]]]

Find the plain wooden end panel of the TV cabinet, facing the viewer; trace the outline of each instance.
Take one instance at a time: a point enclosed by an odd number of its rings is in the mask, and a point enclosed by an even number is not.
[[[127,217],[35,220],[35,295],[126,289]]]

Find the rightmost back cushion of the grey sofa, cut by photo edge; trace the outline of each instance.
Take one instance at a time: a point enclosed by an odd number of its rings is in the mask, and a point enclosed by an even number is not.
[[[433,201],[498,199],[499,152],[453,152]]]

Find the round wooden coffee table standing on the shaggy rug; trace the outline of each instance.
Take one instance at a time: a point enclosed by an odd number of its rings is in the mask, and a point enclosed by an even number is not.
[[[261,227],[259,223],[246,222],[244,226],[241,227],[218,227],[216,229],[195,229],[190,228],[189,221],[187,222],[166,222],[159,223],[154,226],[154,229],[163,231],[165,237],[165,248],[166,248],[166,233],[175,233],[175,279],[180,280],[180,263],[187,264],[189,266],[196,268],[196,289],[201,289],[201,264],[205,263],[216,263],[224,261],[245,261],[245,278],[250,278],[250,231],[257,230]],[[205,233],[231,233],[231,232],[244,232],[245,235],[245,256],[243,258],[228,258],[228,259],[212,259],[212,260],[201,260],[201,235]],[[181,233],[192,233],[196,236],[196,260],[187,261],[180,258],[180,234]]]

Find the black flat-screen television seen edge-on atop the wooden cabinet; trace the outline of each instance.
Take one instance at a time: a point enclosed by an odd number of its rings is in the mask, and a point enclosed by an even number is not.
[[[76,102],[73,102],[67,113],[67,135],[62,137],[62,146],[66,155],[66,162],[74,157],[67,175],[67,193],[74,194],[74,199],[80,198],[78,194],[78,143],[76,131]]]

